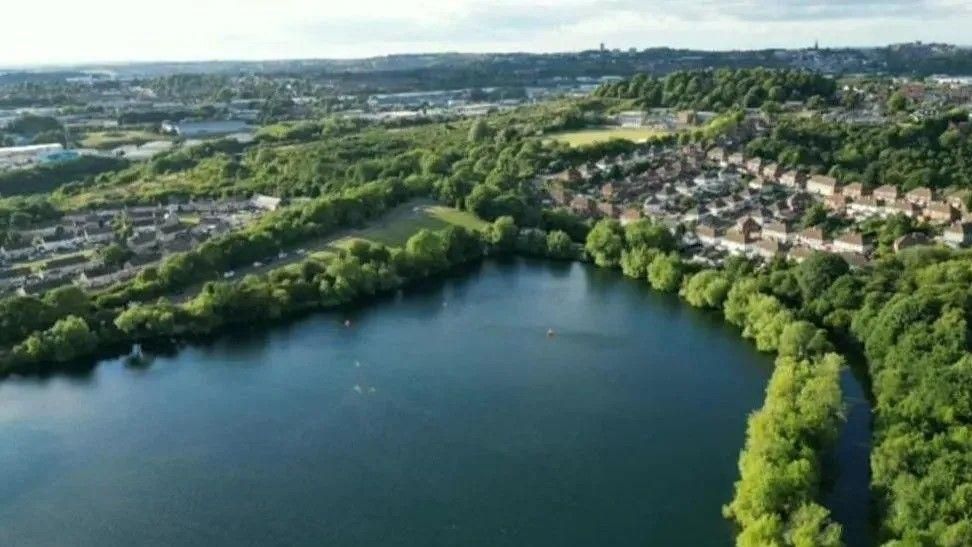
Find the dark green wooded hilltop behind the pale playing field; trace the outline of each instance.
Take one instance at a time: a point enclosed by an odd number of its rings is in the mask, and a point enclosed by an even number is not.
[[[801,71],[753,69],[691,70],[656,78],[638,74],[604,84],[595,96],[632,99],[641,108],[670,107],[724,110],[760,107],[766,103],[809,101],[833,103],[837,83],[833,78]]]

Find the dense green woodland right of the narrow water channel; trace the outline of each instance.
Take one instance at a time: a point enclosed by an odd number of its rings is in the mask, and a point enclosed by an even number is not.
[[[972,254],[919,248],[864,280],[851,332],[875,405],[871,472],[895,545],[972,545]]]

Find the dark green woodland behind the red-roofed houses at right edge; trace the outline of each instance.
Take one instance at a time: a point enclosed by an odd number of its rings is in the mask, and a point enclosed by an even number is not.
[[[893,184],[904,190],[972,188],[968,114],[920,123],[866,126],[820,118],[783,118],[746,152],[787,168],[829,173],[844,182]]]

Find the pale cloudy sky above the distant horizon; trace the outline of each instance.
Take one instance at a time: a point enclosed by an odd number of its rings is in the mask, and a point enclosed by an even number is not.
[[[972,43],[972,0],[5,0],[0,66]]]

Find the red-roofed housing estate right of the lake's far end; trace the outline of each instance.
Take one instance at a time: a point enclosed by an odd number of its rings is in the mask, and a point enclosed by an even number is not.
[[[731,255],[800,262],[823,251],[862,267],[875,251],[863,226],[894,215],[927,223],[941,243],[972,243],[972,215],[962,199],[925,187],[902,194],[890,185],[842,185],[721,147],[652,147],[549,175],[543,185],[550,205],[583,217],[660,222],[680,237],[691,260],[709,265]],[[826,221],[801,226],[816,206],[826,209]],[[923,236],[905,238],[896,248],[930,241]]]

